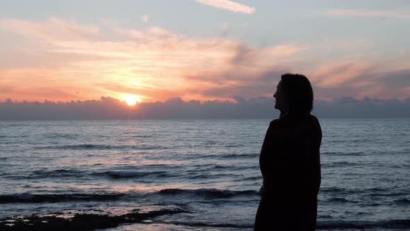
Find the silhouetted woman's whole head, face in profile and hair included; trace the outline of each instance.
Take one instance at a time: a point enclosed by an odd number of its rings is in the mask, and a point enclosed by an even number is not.
[[[284,113],[310,113],[313,109],[313,89],[302,74],[283,74],[273,97],[274,108]]]

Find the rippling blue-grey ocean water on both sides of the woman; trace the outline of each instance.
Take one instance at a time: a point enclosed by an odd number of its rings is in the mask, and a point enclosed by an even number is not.
[[[0,122],[0,218],[178,208],[110,230],[252,230],[269,122]],[[318,230],[410,230],[410,119],[320,123]]]

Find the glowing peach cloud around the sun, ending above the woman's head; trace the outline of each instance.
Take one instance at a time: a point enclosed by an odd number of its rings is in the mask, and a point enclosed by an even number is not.
[[[0,97],[18,96],[18,100],[66,101],[95,99],[99,95],[121,98],[124,93],[142,95],[145,101],[178,96],[222,99],[218,95],[236,94],[236,86],[258,82],[272,68],[286,69],[281,66],[308,48],[297,44],[253,47],[233,38],[189,37],[161,27],[101,28],[56,18],[40,22],[0,19],[0,25],[1,30],[25,40],[21,44],[26,58],[31,57],[33,62],[47,60],[35,67],[0,67],[0,84],[13,86],[7,94],[0,93]],[[65,26],[60,28],[61,25]],[[101,33],[107,30],[108,35]],[[16,59],[15,65],[19,64]],[[240,79],[229,79],[228,75]],[[217,84],[233,90],[210,94]],[[78,88],[80,93],[76,98],[35,94],[36,89],[44,87],[58,88],[67,94]],[[239,95],[255,96],[246,91]]]

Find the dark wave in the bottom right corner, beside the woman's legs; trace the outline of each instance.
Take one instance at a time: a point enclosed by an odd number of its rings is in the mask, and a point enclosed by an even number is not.
[[[317,230],[334,230],[334,229],[398,229],[409,230],[410,220],[388,220],[388,221],[318,221]]]

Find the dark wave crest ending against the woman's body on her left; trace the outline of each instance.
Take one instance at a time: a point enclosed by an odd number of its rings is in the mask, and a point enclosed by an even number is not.
[[[258,191],[243,190],[231,191],[222,189],[162,189],[158,193],[165,195],[194,195],[204,196],[205,198],[231,198],[234,196],[256,196]]]

